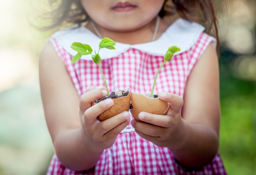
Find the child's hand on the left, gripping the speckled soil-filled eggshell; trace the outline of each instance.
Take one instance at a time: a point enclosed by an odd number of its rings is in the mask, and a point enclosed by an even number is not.
[[[103,151],[115,142],[116,136],[130,122],[129,112],[123,112],[105,121],[99,121],[97,116],[113,106],[113,100],[107,99],[91,106],[91,102],[105,97],[107,91],[101,86],[90,86],[80,97],[81,131],[84,134],[89,149]]]

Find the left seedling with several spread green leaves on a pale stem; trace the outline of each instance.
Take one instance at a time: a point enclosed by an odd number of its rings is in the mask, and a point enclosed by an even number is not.
[[[102,48],[116,49],[115,45],[116,45],[115,41],[105,37],[99,43],[99,50],[102,49]],[[98,66],[99,66],[99,70],[100,70],[102,78],[104,80],[105,88],[108,92],[108,95],[110,95],[105,76],[104,76],[104,74],[102,72],[102,69],[101,69],[101,66],[99,64],[102,61],[101,57],[99,56],[99,50],[98,50],[98,52],[96,52],[96,50],[95,50],[94,51],[95,54],[92,54],[93,49],[91,48],[91,46],[89,46],[88,44],[82,44],[82,43],[79,43],[79,42],[72,43],[70,47],[71,47],[71,49],[73,49],[77,52],[77,54],[71,60],[72,63],[79,60],[82,57],[82,55],[89,55],[89,54],[92,55],[92,59],[93,59],[94,63],[98,64]]]

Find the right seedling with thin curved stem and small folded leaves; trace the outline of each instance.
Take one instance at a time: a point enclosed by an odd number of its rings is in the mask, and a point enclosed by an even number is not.
[[[158,73],[160,72],[160,69],[163,67],[163,65],[167,62],[167,61],[170,61],[172,59],[172,56],[176,53],[176,52],[180,52],[180,48],[177,47],[177,46],[172,46],[172,47],[169,47],[166,54],[164,55],[163,57],[163,64],[160,66],[160,68],[157,70],[157,73],[155,75],[155,79],[154,79],[154,83],[153,83],[153,86],[152,86],[152,90],[151,90],[151,94],[150,94],[150,98],[153,98],[153,95],[154,95],[154,87],[155,87],[155,84],[156,84],[156,81],[157,81],[157,75]]]

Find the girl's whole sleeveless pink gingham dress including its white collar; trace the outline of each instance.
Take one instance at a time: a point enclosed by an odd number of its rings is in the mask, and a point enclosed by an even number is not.
[[[109,90],[129,88],[131,92],[145,94],[151,86],[157,69],[169,46],[177,45],[181,52],[161,69],[156,92],[172,92],[183,97],[186,80],[197,60],[209,43],[215,39],[205,34],[204,27],[176,20],[162,36],[149,43],[129,45],[116,43],[116,50],[101,50],[103,73]],[[90,55],[71,63],[75,51],[73,42],[87,43],[93,49],[100,38],[85,27],[64,29],[53,34],[50,42],[65,64],[77,93],[82,95],[91,85],[104,86],[98,66]],[[77,172],[66,168],[54,155],[47,175],[226,175],[219,155],[201,169],[191,169],[179,164],[168,148],[154,145],[141,138],[129,124],[117,137],[113,146],[105,149],[98,163],[86,171]]]

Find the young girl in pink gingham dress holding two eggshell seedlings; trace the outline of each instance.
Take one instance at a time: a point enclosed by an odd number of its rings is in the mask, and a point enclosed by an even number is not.
[[[55,149],[47,174],[226,174],[218,155],[216,41],[192,22],[204,19],[212,29],[211,0],[61,0],[55,7],[50,27],[76,25],[55,32],[40,56],[41,95]],[[170,23],[163,20],[167,13]],[[116,50],[101,51],[110,92],[150,92],[166,50],[180,47],[155,87],[169,103],[166,115],[141,112],[144,122],[129,112],[97,119],[113,100],[91,106],[106,96],[104,82],[90,56],[71,63],[76,53],[70,46],[95,48],[103,37],[117,42]]]

